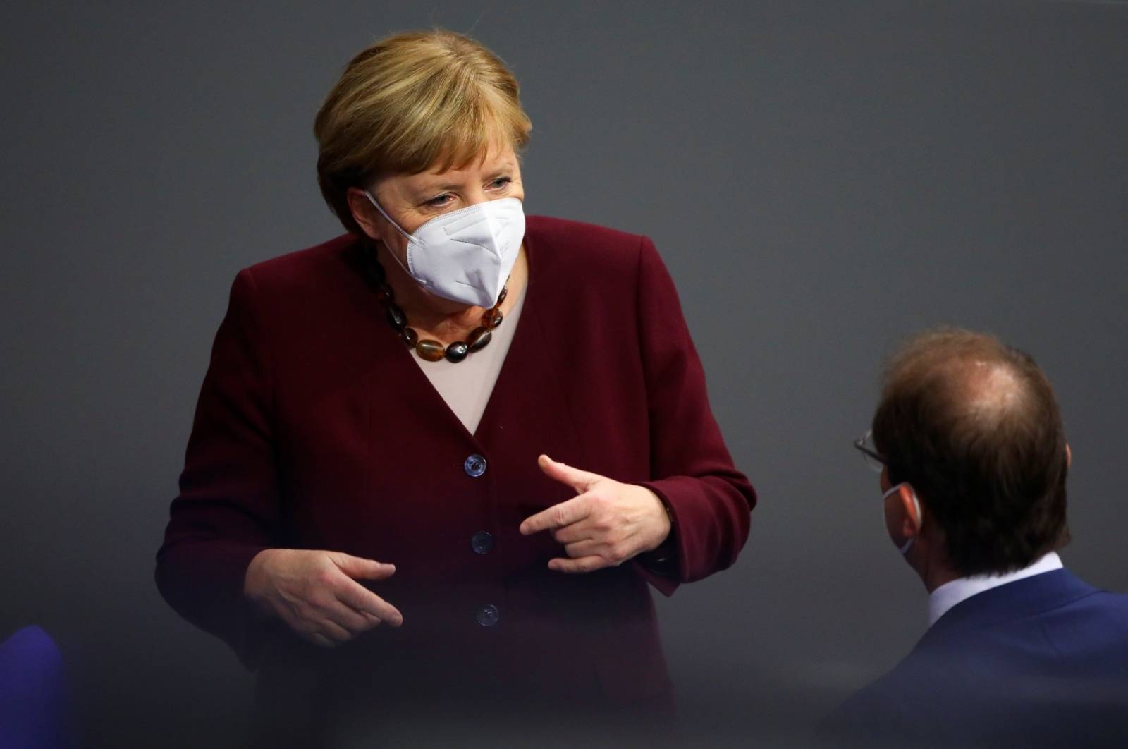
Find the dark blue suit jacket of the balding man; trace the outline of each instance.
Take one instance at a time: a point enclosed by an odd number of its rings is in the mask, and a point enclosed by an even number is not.
[[[1128,596],[1065,570],[972,596],[827,729],[869,746],[1128,746]]]

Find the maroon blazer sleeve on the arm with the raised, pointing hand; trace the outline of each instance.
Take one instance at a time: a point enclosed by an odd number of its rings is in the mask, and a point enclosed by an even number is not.
[[[666,265],[642,238],[637,288],[638,337],[650,413],[651,476],[640,482],[672,517],[677,571],[642,567],[667,596],[733,564],[748,539],[756,492],[732,464],[710,409],[705,372],[689,337]]]

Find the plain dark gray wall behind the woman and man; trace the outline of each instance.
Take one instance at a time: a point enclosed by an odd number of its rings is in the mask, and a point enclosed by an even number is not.
[[[660,601],[697,741],[793,737],[923,632],[849,448],[920,327],[1040,360],[1075,456],[1066,563],[1128,590],[1128,7],[83,5],[0,18],[0,637],[59,640],[91,746],[244,729],[250,677],[164,605],[152,555],[229,284],[340,232],[312,116],[403,28],[515,70],[530,213],[647,233],[678,283],[761,496],[737,567]]]

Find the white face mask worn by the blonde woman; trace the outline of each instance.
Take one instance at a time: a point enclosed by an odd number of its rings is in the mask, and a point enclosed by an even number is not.
[[[407,238],[406,267],[395,253],[390,254],[416,283],[450,301],[494,306],[525,239],[521,201],[502,197],[467,205],[437,215],[414,233],[407,233],[385,213],[371,193],[365,190],[364,195]]]

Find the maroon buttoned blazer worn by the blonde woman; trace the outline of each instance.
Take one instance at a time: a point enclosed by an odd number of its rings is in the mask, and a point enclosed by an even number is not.
[[[653,244],[530,217],[525,245],[528,296],[474,434],[389,326],[354,237],[236,277],[157,583],[258,667],[259,682],[380,673],[384,687],[411,681],[429,695],[443,685],[669,698],[647,581],[670,594],[731,565],[756,495],[710,412]],[[541,452],[658,493],[673,516],[676,569],[549,571],[559,545],[518,526],[574,493],[541,474]],[[485,553],[474,540],[483,531]],[[267,547],[394,563],[395,576],[371,588],[403,627],[321,651],[258,622],[243,582]]]

